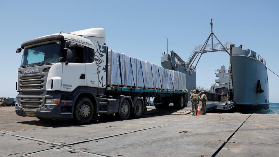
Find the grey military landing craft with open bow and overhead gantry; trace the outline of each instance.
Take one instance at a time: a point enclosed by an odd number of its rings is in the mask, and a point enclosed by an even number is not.
[[[257,112],[269,108],[268,78],[265,60],[250,49],[242,49],[242,45],[235,47],[230,42],[221,43],[213,33],[211,19],[211,33],[203,45],[196,46],[187,61],[181,59],[177,53],[163,54],[161,65],[169,70],[183,72],[186,74],[188,90],[204,90],[211,101],[220,101],[221,90],[226,93],[226,104],[232,101],[235,109],[239,112]],[[213,44],[213,38],[218,43]],[[211,44],[208,44],[211,39]],[[230,56],[230,67],[228,73],[224,66],[219,74],[226,76],[225,80],[218,80],[210,89],[196,85],[196,66],[203,53],[225,51]],[[199,57],[198,57],[199,56]],[[195,60],[198,60],[195,62]],[[193,66],[193,63],[196,63]],[[189,93],[188,93],[189,94]],[[189,96],[188,96],[189,97]]]

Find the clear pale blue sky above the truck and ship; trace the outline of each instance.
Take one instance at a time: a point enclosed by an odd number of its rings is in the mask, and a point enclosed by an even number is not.
[[[51,33],[101,27],[109,49],[160,65],[162,52],[174,50],[187,60],[213,31],[221,42],[243,44],[259,53],[279,74],[278,1],[1,1],[0,97],[15,97],[22,42]],[[197,85],[210,88],[215,69],[226,65],[225,52],[199,61]],[[245,76],[245,74],[244,74]],[[268,72],[269,100],[279,102],[279,77]]]

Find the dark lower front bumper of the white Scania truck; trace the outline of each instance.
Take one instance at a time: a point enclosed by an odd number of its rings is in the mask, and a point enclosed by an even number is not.
[[[23,107],[15,105],[15,113],[19,116],[41,117],[46,119],[73,119],[71,112],[61,112],[63,108],[68,107],[62,104],[44,104],[43,107]],[[68,108],[71,108],[69,106]],[[35,115],[34,115],[34,114]]]

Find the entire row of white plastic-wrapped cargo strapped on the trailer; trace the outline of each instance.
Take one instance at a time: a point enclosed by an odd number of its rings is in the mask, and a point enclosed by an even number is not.
[[[186,75],[109,50],[108,85],[110,84],[185,91]]]

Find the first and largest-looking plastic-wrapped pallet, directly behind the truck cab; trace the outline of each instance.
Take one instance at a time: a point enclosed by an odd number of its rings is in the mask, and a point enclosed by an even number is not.
[[[119,58],[120,58],[120,62],[119,62]],[[122,82],[120,77],[120,68],[121,68]],[[124,53],[118,53],[117,51],[114,50],[108,51],[108,84],[112,84],[112,85],[126,84]]]

